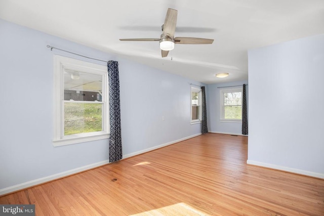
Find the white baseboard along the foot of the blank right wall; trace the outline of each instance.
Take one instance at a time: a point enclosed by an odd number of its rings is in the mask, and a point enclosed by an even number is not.
[[[318,173],[318,172],[311,172],[311,171],[307,171],[307,170],[290,168],[290,167],[286,167],[286,166],[279,166],[279,165],[270,164],[270,163],[263,163],[263,162],[254,161],[254,160],[247,160],[247,164],[256,165],[256,166],[263,166],[263,167],[267,167],[267,168],[293,172],[295,174],[301,174],[301,175],[305,175],[305,176],[324,179],[324,174],[321,174],[321,173]]]

